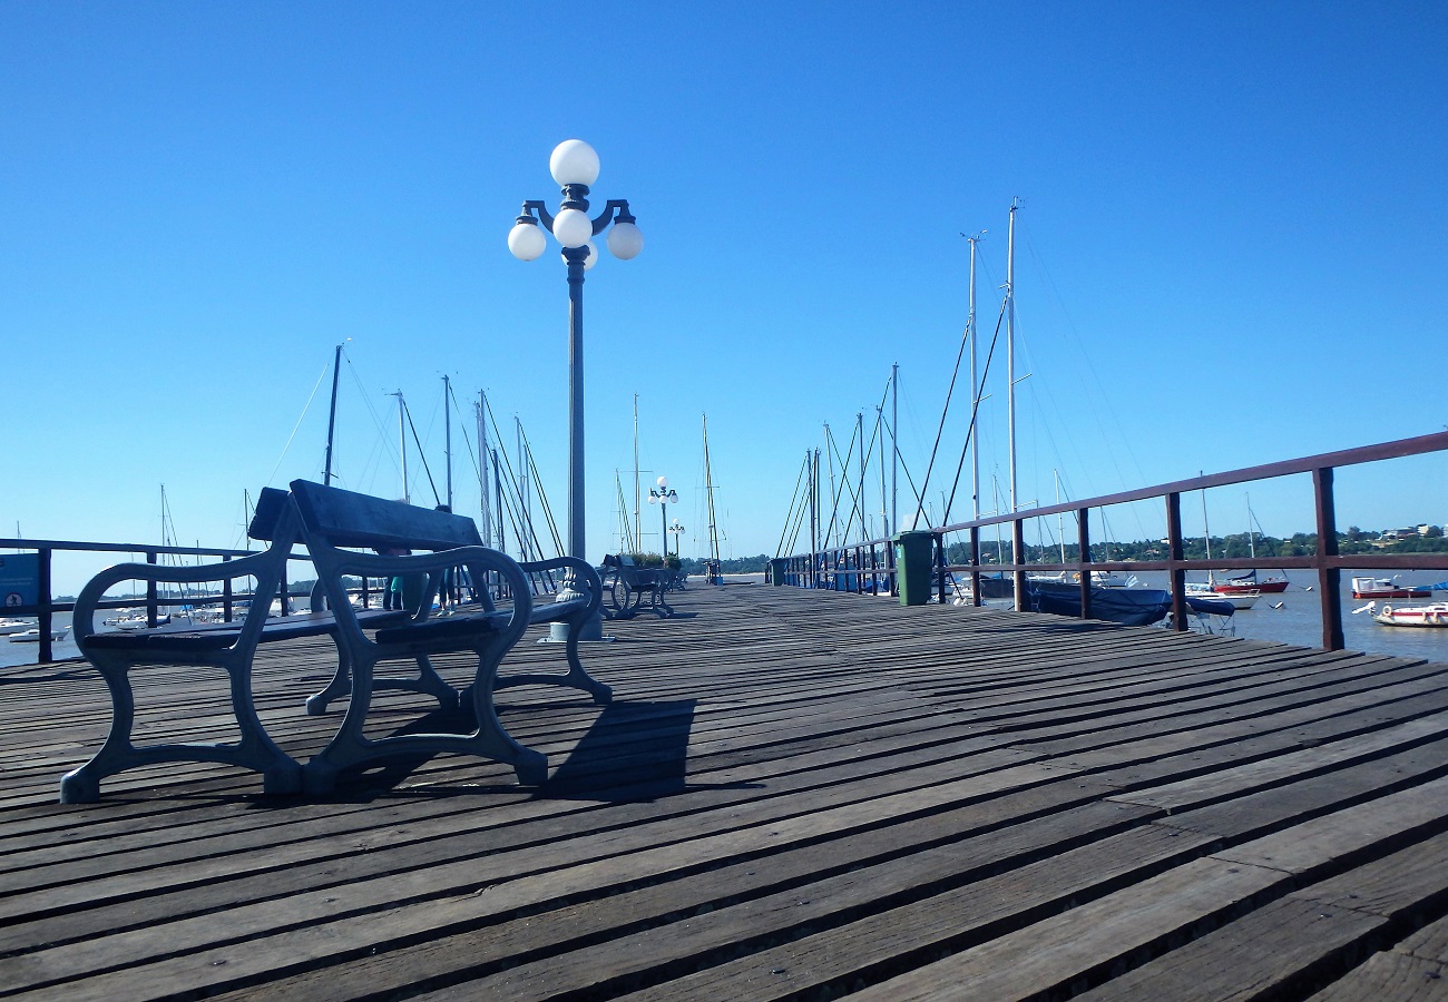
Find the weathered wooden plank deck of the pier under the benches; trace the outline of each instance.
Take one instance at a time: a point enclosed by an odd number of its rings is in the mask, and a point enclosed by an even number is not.
[[[1448,995],[1448,666],[789,588],[675,605],[588,649],[611,707],[500,694],[536,791],[452,757],[326,799],[172,766],[59,805],[101,682],[4,669],[0,995]],[[258,665],[298,757],[332,665]],[[223,717],[220,679],[136,679],[142,728]]]

